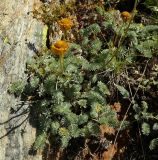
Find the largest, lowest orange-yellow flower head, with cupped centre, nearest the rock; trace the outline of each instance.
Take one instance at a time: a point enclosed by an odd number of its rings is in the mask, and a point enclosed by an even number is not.
[[[51,50],[58,56],[62,56],[68,50],[69,45],[66,41],[58,40],[55,44],[51,46]]]

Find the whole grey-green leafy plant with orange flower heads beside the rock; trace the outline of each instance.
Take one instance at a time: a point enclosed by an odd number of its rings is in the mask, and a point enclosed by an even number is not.
[[[15,82],[9,90],[29,101],[37,117],[35,149],[43,149],[49,137],[54,137],[61,148],[66,148],[71,139],[99,137],[102,124],[120,129],[117,113],[110,106],[113,95],[108,76],[135,67],[138,59],[150,60],[157,56],[158,49],[158,26],[134,23],[135,9],[120,13],[97,7],[93,19],[73,32],[76,42],[67,42],[67,35],[63,36],[50,50],[44,49],[28,60],[27,80]],[[64,35],[65,28],[70,31],[73,26],[69,24],[67,27],[59,21]],[[133,103],[135,97],[127,86],[114,79],[114,90]],[[147,104],[143,101],[142,106]],[[155,116],[136,104],[133,108],[142,132],[150,134],[149,124],[142,119]],[[123,121],[121,129],[126,125]],[[157,124],[153,127],[157,128]],[[156,142],[157,138],[151,142],[151,149]]]

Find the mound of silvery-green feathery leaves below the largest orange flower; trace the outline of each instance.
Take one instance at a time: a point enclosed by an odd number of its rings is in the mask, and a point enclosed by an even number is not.
[[[72,138],[99,136],[100,124],[119,125],[116,112],[107,104],[108,87],[91,72],[91,62],[73,55],[74,50],[79,53],[80,47],[72,44],[63,71],[50,51],[27,62],[28,79],[23,86],[20,83],[18,94],[29,101],[37,118],[35,149],[42,149],[50,136],[66,148]],[[14,86],[10,90],[16,94]]]

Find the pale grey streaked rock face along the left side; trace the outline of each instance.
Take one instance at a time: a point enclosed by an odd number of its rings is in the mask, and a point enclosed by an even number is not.
[[[0,160],[41,160],[29,155],[36,130],[29,124],[28,105],[7,93],[9,85],[25,77],[25,63],[41,46],[43,24],[31,15],[37,0],[0,1]]]

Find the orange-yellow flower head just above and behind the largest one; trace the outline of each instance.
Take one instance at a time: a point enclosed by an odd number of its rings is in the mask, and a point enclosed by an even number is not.
[[[58,21],[58,24],[63,30],[70,30],[71,27],[73,26],[73,22],[70,18],[63,18]]]

